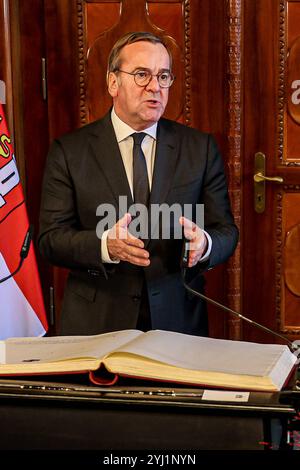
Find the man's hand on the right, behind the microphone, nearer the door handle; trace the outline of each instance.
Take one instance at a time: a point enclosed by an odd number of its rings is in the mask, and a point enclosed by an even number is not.
[[[207,250],[207,238],[203,230],[186,217],[180,217],[179,223],[183,233],[189,240],[189,268],[195,266]]]

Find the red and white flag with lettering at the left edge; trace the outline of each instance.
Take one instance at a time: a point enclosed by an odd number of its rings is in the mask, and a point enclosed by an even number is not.
[[[0,104],[0,281],[18,268],[29,228],[22,186]],[[0,282],[0,339],[42,336],[48,329],[39,274],[31,243],[21,269]]]

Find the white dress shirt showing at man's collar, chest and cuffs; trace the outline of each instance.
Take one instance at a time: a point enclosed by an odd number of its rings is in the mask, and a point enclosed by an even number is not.
[[[133,197],[133,138],[131,135],[136,132],[135,129],[132,129],[128,124],[121,121],[121,119],[117,116],[114,108],[111,112],[111,121],[112,125],[116,134],[116,138],[118,141],[121,157],[123,160],[124,168],[126,171],[128,183],[130,186],[131,194]],[[154,162],[155,162],[155,151],[156,151],[156,132],[157,132],[157,123],[153,124],[153,126],[148,127],[147,129],[143,129],[145,134],[147,134],[142,142],[142,150],[145,155],[146,165],[147,165],[147,172],[148,172],[148,179],[149,179],[149,188],[151,191],[152,187],[152,177],[153,177],[153,169],[154,169]],[[119,261],[113,261],[108,253],[107,249],[107,235],[109,230],[103,232],[101,237],[101,254],[102,254],[102,262],[103,263],[119,263]],[[208,246],[206,253],[200,259],[201,261],[205,261],[211,252],[212,240],[208,233],[204,231]]]

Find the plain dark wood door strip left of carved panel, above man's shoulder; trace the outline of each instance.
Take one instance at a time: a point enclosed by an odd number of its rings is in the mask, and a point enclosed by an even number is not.
[[[44,0],[49,140],[79,127],[76,0]]]

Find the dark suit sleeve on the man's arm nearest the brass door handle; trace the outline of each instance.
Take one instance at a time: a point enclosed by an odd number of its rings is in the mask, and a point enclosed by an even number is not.
[[[225,262],[238,242],[238,229],[232,216],[226,176],[215,140],[208,136],[207,165],[202,186],[204,226],[212,238],[212,251],[207,269]]]

